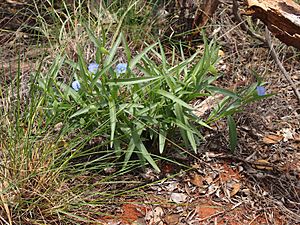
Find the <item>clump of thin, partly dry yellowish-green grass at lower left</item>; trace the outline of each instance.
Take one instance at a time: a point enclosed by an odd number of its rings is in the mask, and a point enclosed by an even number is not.
[[[59,60],[54,65],[57,63]],[[48,76],[54,77],[56,69],[53,66]],[[131,194],[133,181],[120,177],[140,165],[131,161],[126,169],[114,173],[92,173],[118,165],[110,161],[111,152],[84,149],[102,134],[101,129],[88,133],[87,128],[77,129],[69,122],[74,109],[46,114],[49,93],[45,95],[37,87],[40,69],[31,74],[28,83],[21,82],[20,63],[16,74],[10,75],[16,78],[0,87],[1,223],[98,223],[99,217],[108,215],[101,211],[104,205],[113,204],[117,195]],[[91,159],[95,154],[101,157]],[[81,158],[89,160],[79,161]],[[126,191],[119,188],[124,185]],[[93,217],[87,216],[91,212]]]

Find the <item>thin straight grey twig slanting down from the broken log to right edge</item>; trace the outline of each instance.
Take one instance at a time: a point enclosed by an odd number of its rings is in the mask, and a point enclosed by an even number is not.
[[[298,98],[298,101],[300,103],[300,93],[299,93],[299,90],[297,88],[297,86],[295,85],[294,81],[291,79],[289,73],[285,70],[285,68],[283,67],[282,63],[280,62],[278,56],[277,56],[277,53],[275,52],[275,49],[273,47],[273,44],[272,44],[272,40],[271,40],[271,35],[270,35],[270,31],[268,30],[268,28],[266,27],[266,41],[267,41],[267,44],[268,44],[268,47],[270,49],[270,52],[271,52],[271,55],[272,55],[272,58],[274,59],[274,61],[276,62],[276,64],[278,65],[279,69],[281,70],[281,72],[283,73],[285,79],[287,79],[287,81],[290,83],[290,85],[292,86],[294,92],[295,92],[295,95],[297,96]]]

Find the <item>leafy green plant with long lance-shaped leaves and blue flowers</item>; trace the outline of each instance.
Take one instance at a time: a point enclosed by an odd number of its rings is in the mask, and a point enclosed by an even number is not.
[[[256,99],[253,87],[236,94],[213,85],[219,77],[215,69],[218,47],[213,41],[205,41],[201,58],[200,52],[196,52],[185,59],[181,51],[181,61],[176,62],[175,49],[169,60],[160,43],[152,44],[132,57],[122,34],[106,50],[106,38],[99,39],[88,27],[86,29],[97,48],[99,68],[94,71],[96,73],[88,70],[78,47],[78,63],[65,60],[63,56],[57,57],[48,73],[51,76],[40,79],[39,84],[46,93],[48,114],[56,117],[68,115],[69,123],[76,129],[90,132],[97,129],[109,143],[110,151],[116,157],[123,157],[124,167],[136,153],[142,165],[148,162],[159,171],[154,152],[149,152],[146,143],[157,143],[162,154],[166,140],[177,138],[171,137],[176,130],[179,130],[185,147],[196,152],[202,139],[199,126],[210,128],[209,123],[234,114],[244,104]],[[114,66],[121,45],[128,68],[119,74]],[[75,80],[80,83],[78,92],[58,81],[57,74],[64,64],[71,66]],[[224,98],[207,121],[203,121],[193,113],[189,103],[215,93],[223,94]],[[232,119],[228,121],[232,133],[234,123]],[[232,141],[236,140],[231,137]]]

